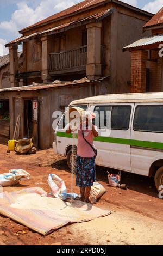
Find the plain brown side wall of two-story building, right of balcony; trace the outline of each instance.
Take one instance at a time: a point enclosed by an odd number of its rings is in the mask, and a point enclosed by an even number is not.
[[[142,37],[151,35],[151,32],[142,33],[142,26],[145,23],[145,20],[118,13],[116,93],[130,93],[130,52],[122,52],[122,48]]]

